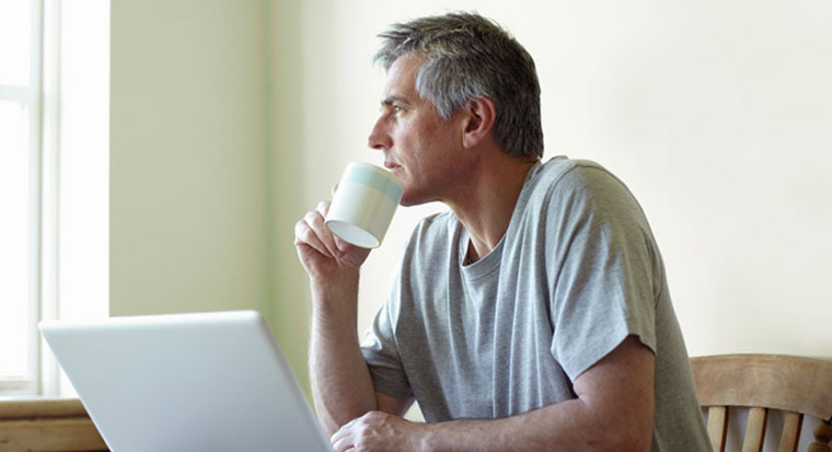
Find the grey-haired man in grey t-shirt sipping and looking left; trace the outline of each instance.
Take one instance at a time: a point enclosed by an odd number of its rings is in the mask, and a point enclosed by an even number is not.
[[[414,231],[390,298],[356,335],[369,251],[296,225],[313,299],[310,367],[336,451],[709,450],[665,269],[626,187],[591,162],[541,164],[532,58],[493,22],[393,25],[369,144]],[[428,422],[401,416],[418,401]]]

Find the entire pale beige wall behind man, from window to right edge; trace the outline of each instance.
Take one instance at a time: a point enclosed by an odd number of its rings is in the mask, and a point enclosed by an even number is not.
[[[294,221],[366,136],[374,35],[477,9],[535,57],[546,157],[642,201],[692,355],[832,356],[832,4],[113,1],[111,311],[254,308],[305,379]],[[361,328],[421,216],[366,264]]]

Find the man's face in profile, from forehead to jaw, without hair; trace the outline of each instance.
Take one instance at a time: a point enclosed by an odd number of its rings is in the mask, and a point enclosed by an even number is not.
[[[402,206],[446,200],[467,167],[461,114],[444,120],[416,92],[416,74],[424,61],[424,57],[405,56],[390,68],[381,116],[369,137],[369,146],[384,152],[384,166],[404,183]]]

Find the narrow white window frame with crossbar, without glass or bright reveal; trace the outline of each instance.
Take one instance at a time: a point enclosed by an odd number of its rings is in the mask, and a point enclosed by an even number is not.
[[[57,385],[45,376],[57,381],[58,364],[43,352],[37,324],[58,311],[59,0],[30,0],[30,14],[28,81],[25,86],[0,85],[0,100],[24,106],[28,116],[27,378],[0,380],[1,396],[57,394]]]

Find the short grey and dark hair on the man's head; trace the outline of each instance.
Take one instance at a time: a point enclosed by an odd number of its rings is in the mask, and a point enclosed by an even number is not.
[[[373,62],[390,70],[402,56],[427,57],[416,92],[443,119],[471,98],[497,111],[494,137],[509,155],[543,155],[540,83],[531,55],[500,25],[476,13],[449,13],[391,25]]]

